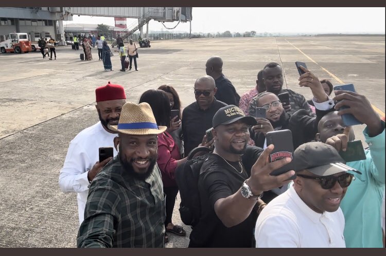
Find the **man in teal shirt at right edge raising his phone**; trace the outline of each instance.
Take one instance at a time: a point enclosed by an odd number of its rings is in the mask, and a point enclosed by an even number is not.
[[[385,123],[362,95],[336,91],[334,100],[338,101],[336,109],[343,105],[349,108],[324,116],[318,125],[317,140],[332,145],[338,151],[345,151],[347,141],[354,140],[354,133],[345,128],[340,116],[352,114],[367,125],[363,135],[369,145],[369,149],[365,150],[365,160],[346,163],[362,173],[354,174],[356,179],[340,205],[345,217],[346,246],[383,247],[380,214],[385,189]]]

